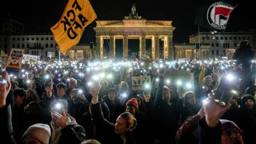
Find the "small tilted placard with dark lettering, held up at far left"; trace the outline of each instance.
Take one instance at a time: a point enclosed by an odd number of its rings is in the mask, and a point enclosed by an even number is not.
[[[10,56],[6,63],[6,70],[9,73],[19,72],[22,63],[22,57],[24,54],[24,50],[22,49],[12,49],[10,52]]]

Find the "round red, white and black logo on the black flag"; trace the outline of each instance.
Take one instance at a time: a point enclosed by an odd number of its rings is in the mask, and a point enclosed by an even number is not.
[[[207,11],[207,20],[215,29],[225,29],[230,13],[234,7],[230,4],[217,2],[212,4]]]

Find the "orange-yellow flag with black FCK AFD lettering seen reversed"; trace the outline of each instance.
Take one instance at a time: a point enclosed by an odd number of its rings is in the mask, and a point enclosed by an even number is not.
[[[84,28],[96,18],[97,15],[88,0],[69,0],[61,19],[51,28],[60,51],[66,53],[76,45]]]

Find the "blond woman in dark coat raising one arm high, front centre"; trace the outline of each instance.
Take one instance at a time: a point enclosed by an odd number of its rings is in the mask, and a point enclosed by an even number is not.
[[[97,132],[100,135],[101,143],[113,144],[135,144],[132,137],[132,131],[136,128],[136,118],[131,113],[125,112],[118,116],[115,124],[109,122],[102,114],[101,104],[99,102],[100,84],[91,87],[92,104],[90,111],[93,122],[96,125]]]

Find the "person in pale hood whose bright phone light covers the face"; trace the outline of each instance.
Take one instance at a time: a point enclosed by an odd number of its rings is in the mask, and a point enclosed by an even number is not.
[[[56,100],[52,103],[51,117],[51,144],[79,144],[85,140],[84,128],[78,125],[76,119],[68,114],[68,104],[65,100]]]

